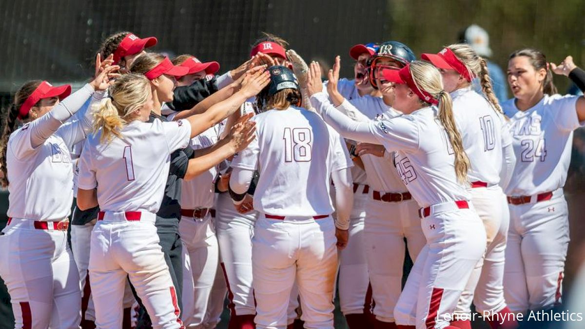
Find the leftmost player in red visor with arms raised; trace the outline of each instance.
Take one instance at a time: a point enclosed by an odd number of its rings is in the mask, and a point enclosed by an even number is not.
[[[118,67],[99,69],[70,97],[70,85],[25,83],[4,122],[0,163],[10,207],[0,234],[0,276],[11,295],[15,328],[78,328],[81,321],[79,276],[67,245],[73,200],[68,149],[90,131],[91,113],[63,122],[95,90],[107,88],[108,74]]]

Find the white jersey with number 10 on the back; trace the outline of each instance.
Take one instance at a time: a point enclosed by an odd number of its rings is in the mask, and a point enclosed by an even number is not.
[[[471,163],[467,180],[497,185],[503,162],[502,148],[512,143],[504,117],[471,87],[453,91],[451,97],[463,149]]]

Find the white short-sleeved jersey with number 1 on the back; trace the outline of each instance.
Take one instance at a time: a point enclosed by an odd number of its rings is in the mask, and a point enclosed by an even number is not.
[[[189,144],[191,124],[132,121],[122,131],[100,143],[98,131],[85,141],[79,161],[80,189],[97,187],[102,211],[157,213],[168,177],[171,153]]]

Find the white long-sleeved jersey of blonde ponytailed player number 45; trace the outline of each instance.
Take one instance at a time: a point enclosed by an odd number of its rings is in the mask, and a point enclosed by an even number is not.
[[[338,125],[330,116],[337,111],[318,92],[311,97],[311,104],[319,112],[327,112],[325,121]],[[383,121],[361,122],[352,125],[344,136],[371,140],[384,145],[394,153],[394,164],[402,182],[421,207],[433,204],[470,200],[470,195],[459,184],[455,174],[455,152],[445,128],[436,118],[439,109],[425,107],[409,115],[400,115]],[[338,116],[341,114],[338,114]],[[346,120],[344,120],[346,121]],[[339,128],[345,131],[344,128]]]

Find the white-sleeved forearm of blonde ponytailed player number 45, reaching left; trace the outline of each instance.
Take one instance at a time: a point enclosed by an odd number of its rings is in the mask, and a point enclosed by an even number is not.
[[[353,139],[359,142],[380,143],[376,136],[370,132],[369,123],[356,122],[340,113],[331,102],[326,94],[317,92],[311,96],[311,104],[317,109],[324,121],[332,126],[339,135],[346,139]]]

